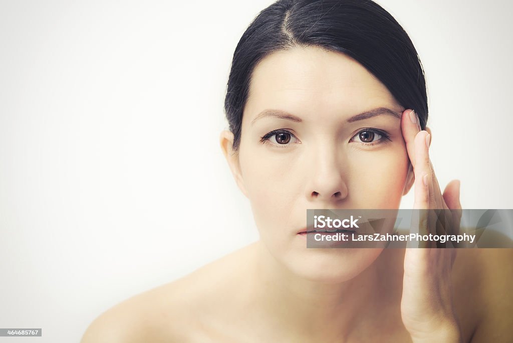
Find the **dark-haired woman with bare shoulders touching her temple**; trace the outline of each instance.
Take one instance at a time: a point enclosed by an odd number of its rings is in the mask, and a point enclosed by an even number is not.
[[[225,109],[222,150],[260,240],[117,305],[84,343],[513,341],[509,249],[306,249],[309,208],[399,208],[413,187],[414,208],[461,209],[459,181],[442,193],[429,161],[422,66],[388,12],[272,4],[235,49]]]

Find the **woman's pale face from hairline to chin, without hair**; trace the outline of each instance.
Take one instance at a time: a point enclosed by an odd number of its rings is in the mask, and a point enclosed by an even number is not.
[[[341,282],[381,253],[306,249],[298,232],[306,227],[307,208],[399,208],[412,181],[401,133],[404,109],[342,53],[293,48],[254,69],[238,160],[229,162],[262,241],[290,271]],[[380,114],[353,118],[366,111]]]

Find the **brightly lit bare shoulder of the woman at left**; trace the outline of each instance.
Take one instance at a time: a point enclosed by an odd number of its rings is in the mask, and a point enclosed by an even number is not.
[[[210,341],[209,320],[226,307],[252,245],[116,304],[91,323],[81,343]]]

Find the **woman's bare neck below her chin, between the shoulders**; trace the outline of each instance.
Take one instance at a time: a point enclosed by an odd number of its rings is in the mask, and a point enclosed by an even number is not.
[[[383,322],[383,310],[389,311],[390,305],[399,306],[400,302],[393,299],[400,297],[401,283],[392,266],[400,260],[394,260],[398,254],[393,252],[385,250],[356,277],[339,283],[292,274],[261,241],[254,253],[254,303],[269,315],[276,328],[297,334],[302,340],[345,340],[355,330]],[[396,313],[400,313],[399,308]]]

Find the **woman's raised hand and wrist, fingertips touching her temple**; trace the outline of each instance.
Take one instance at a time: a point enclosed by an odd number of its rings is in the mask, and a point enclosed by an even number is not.
[[[429,160],[429,132],[421,130],[419,119],[411,109],[403,112],[401,129],[415,175],[413,208],[420,210],[413,211],[412,218],[416,220],[412,220],[411,233],[457,233],[461,220],[460,182],[452,180],[441,194]],[[426,211],[428,209],[430,211]],[[456,249],[437,249],[434,241],[422,244],[407,247],[404,257],[401,299],[404,326],[413,342],[462,342],[451,295],[451,270]]]

